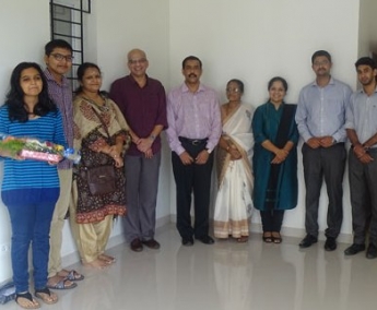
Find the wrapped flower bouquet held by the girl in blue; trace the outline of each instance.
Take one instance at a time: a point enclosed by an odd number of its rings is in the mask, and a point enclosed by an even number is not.
[[[81,156],[73,148],[48,141],[39,141],[31,138],[15,138],[0,133],[0,155],[14,159],[28,158],[49,163],[59,163],[68,158],[78,164]]]

